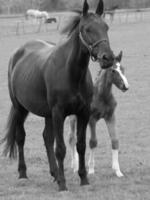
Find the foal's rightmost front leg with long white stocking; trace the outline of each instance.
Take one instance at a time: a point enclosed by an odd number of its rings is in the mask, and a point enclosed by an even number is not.
[[[119,152],[119,140],[116,134],[115,126],[115,115],[113,114],[109,119],[105,119],[107,129],[111,138],[112,144],[112,169],[118,177],[122,177],[123,173],[120,170],[118,152]]]

